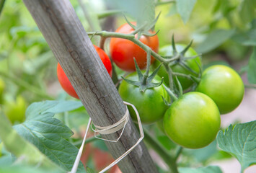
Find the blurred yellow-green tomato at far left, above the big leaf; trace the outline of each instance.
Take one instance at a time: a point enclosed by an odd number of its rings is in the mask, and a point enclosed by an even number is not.
[[[12,124],[22,123],[25,120],[26,102],[21,96],[18,96],[16,102],[6,102],[4,104],[4,114],[9,118]]]

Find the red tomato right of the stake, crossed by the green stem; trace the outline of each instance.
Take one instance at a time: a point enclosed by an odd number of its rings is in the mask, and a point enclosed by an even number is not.
[[[132,22],[132,24],[136,25],[136,22]],[[133,31],[133,28],[126,23],[120,26],[115,32],[129,34]],[[149,33],[153,34],[155,32],[149,31]],[[157,35],[154,35],[153,37],[142,35],[139,40],[145,45],[148,45],[156,53],[158,52],[159,40]],[[139,68],[146,67],[146,52],[130,40],[111,38],[110,55],[115,64],[123,71],[136,71],[133,58],[136,59]],[[153,62],[154,58],[151,56],[151,63]]]

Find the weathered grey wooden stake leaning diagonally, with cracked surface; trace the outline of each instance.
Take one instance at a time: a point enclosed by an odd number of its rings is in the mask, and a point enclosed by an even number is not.
[[[94,124],[107,126],[118,122],[125,114],[125,105],[71,3],[68,0],[23,1]],[[112,139],[118,135],[120,131],[104,137]],[[106,144],[116,159],[139,137],[135,125],[129,120],[120,141]],[[143,142],[119,163],[123,173],[157,172]]]

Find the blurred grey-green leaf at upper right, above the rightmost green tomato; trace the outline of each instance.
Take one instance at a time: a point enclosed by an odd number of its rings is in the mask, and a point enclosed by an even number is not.
[[[198,53],[207,53],[228,40],[234,35],[235,30],[214,30],[211,32],[195,50]]]

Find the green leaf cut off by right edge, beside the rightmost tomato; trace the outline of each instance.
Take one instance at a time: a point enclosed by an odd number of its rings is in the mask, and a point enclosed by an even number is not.
[[[250,84],[256,84],[256,47],[253,48],[248,66],[248,81]]]

